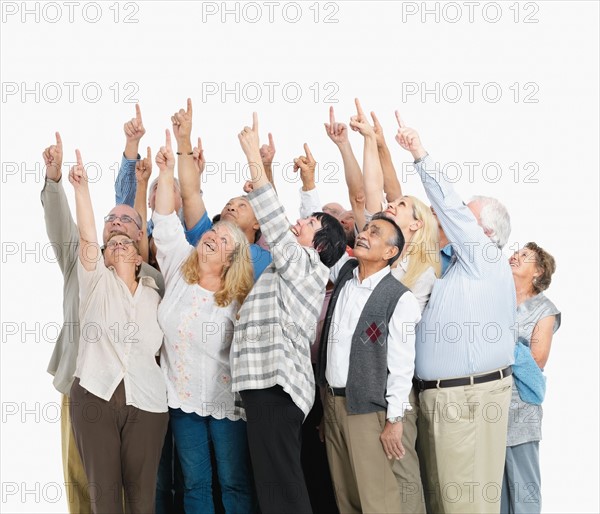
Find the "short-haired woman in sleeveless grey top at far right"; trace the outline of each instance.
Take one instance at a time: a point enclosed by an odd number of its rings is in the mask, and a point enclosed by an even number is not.
[[[550,285],[556,264],[535,243],[527,243],[509,262],[517,291],[518,341],[500,510],[539,513],[539,441],[545,392],[542,370],[548,362],[552,335],[560,327],[560,312],[543,291]]]

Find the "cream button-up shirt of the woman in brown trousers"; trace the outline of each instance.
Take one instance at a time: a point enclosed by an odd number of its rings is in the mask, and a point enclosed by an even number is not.
[[[167,412],[165,380],[155,359],[163,332],[154,279],[141,277],[132,295],[103,260],[93,271],[78,261],[77,274],[81,333],[75,376],[81,386],[108,401],[124,380],[127,405]]]

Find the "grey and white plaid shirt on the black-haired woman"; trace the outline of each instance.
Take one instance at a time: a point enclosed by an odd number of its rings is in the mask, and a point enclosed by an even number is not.
[[[233,391],[279,385],[304,412],[315,397],[310,345],[329,279],[313,248],[301,246],[270,184],[248,199],[273,262],[246,298],[231,345]]]

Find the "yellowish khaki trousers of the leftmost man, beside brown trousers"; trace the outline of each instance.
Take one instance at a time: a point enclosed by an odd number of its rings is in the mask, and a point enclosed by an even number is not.
[[[63,457],[63,474],[67,504],[71,514],[90,514],[90,495],[88,482],[81,462],[81,456],[73,437],[71,414],[69,412],[69,397],[62,395],[60,406],[60,432]]]

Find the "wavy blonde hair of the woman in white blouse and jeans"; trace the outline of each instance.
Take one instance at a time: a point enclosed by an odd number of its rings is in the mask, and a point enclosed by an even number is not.
[[[215,303],[219,307],[227,307],[237,300],[241,305],[254,285],[254,269],[250,261],[248,239],[237,225],[229,221],[219,221],[213,225],[213,228],[215,227],[227,228],[235,246],[235,250],[223,264],[221,288],[215,291]],[[200,280],[202,273],[195,248],[181,265],[181,273],[188,284],[197,284]]]

